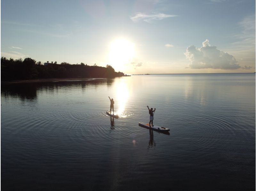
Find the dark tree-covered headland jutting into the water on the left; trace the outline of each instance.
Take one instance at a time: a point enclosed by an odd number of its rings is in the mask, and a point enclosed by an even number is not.
[[[89,66],[87,64],[69,64],[62,62],[42,63],[32,58],[24,60],[1,57],[1,81],[7,80],[32,80],[43,78],[114,78],[128,76],[122,72],[115,72],[115,69],[106,67]]]

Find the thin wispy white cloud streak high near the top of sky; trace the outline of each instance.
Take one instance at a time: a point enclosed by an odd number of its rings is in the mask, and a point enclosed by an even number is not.
[[[137,13],[135,16],[130,17],[133,22],[138,22],[140,20],[143,20],[145,22],[151,22],[152,20],[162,20],[168,17],[177,17],[178,15],[166,15],[164,13],[157,13],[157,14],[152,14],[152,15],[147,15],[144,13]]]

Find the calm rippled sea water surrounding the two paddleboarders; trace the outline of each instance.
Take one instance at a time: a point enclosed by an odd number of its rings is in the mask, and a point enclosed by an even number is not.
[[[255,190],[255,74],[2,84],[1,189]]]

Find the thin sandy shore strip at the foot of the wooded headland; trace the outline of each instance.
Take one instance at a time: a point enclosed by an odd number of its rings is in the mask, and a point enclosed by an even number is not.
[[[105,78],[47,78],[47,79],[36,79],[36,80],[12,80],[12,81],[1,81],[1,84],[57,82],[57,81],[86,81],[86,80],[94,80],[94,79],[105,79]]]

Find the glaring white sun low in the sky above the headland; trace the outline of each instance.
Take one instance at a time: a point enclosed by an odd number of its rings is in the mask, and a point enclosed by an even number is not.
[[[109,65],[116,72],[124,70],[125,65],[132,62],[135,50],[134,44],[126,39],[116,39],[110,43],[109,48]]]

